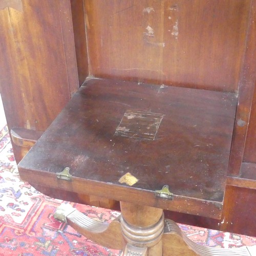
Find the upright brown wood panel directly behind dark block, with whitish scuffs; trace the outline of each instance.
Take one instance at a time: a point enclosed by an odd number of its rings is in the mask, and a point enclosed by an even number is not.
[[[250,3],[85,0],[90,74],[236,91]]]

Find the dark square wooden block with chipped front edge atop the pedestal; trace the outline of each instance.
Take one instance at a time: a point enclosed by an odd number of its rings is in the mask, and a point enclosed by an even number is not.
[[[19,163],[20,176],[219,218],[236,106],[233,93],[89,79]],[[56,178],[65,167],[72,181]],[[173,200],[155,196],[164,185]]]

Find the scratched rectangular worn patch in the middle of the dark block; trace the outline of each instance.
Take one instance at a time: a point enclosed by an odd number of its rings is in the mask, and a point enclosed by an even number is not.
[[[146,111],[127,110],[117,126],[115,135],[154,140],[163,116]]]

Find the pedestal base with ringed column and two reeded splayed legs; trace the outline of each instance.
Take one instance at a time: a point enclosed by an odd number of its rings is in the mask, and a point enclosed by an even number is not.
[[[122,215],[111,224],[92,220],[69,204],[58,207],[54,217],[97,244],[123,250],[125,256],[256,255],[256,246],[224,249],[198,245],[174,221],[164,220],[162,209],[125,202],[120,205]]]

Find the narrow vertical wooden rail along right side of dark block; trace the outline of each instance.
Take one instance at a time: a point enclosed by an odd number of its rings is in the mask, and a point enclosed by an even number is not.
[[[240,79],[239,89],[239,103],[237,108],[236,121],[234,125],[233,140],[231,146],[231,155],[229,163],[229,174],[231,176],[239,176],[240,168],[243,161],[243,155],[245,150],[246,133],[248,123],[250,122],[249,134],[247,137],[247,145],[253,139],[251,129],[255,127],[255,120],[252,110],[251,121],[249,121],[254,83],[255,83],[255,41],[256,41],[256,1],[252,0],[250,19],[248,25],[248,35],[246,41],[246,52],[244,57],[244,63],[242,68],[242,74]],[[254,107],[253,107],[254,108]],[[253,150],[254,146],[251,148]],[[247,147],[246,154],[248,154],[249,148]],[[248,156],[248,155],[246,155]],[[246,159],[245,156],[245,159]]]

